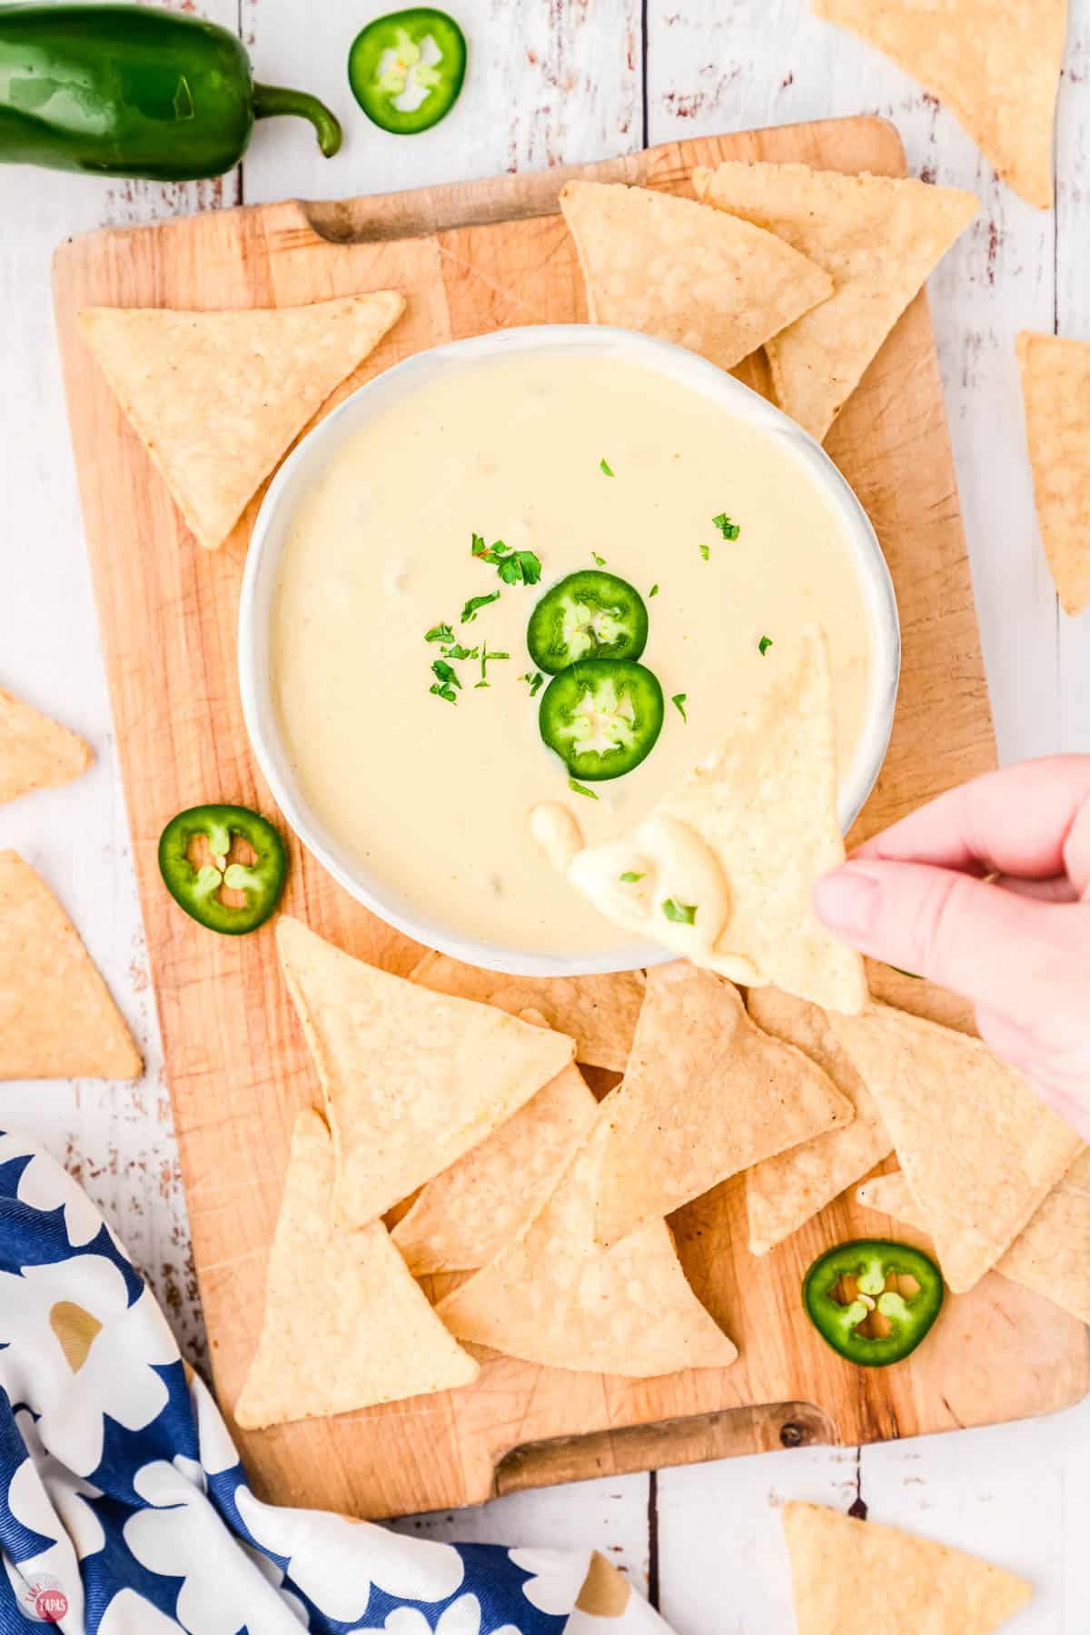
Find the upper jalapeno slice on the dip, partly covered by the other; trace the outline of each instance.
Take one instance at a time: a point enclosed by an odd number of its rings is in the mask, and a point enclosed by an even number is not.
[[[647,646],[647,608],[639,590],[593,567],[546,590],[526,628],[529,657],[559,675],[580,659],[639,659]]]

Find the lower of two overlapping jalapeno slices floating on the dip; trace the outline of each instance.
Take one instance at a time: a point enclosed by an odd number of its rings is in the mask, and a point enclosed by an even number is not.
[[[662,731],[657,675],[631,659],[582,659],[554,675],[538,708],[541,736],[580,783],[639,767]]]

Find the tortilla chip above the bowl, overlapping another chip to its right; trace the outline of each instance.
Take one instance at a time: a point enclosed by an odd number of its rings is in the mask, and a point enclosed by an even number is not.
[[[730,370],[832,294],[832,280],[748,222],[649,188],[569,181],[561,209],[592,324],[673,340]]]

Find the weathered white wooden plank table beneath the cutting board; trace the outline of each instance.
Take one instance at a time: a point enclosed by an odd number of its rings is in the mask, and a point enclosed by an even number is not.
[[[136,1087],[5,1086],[0,1123],[34,1131],[83,1180],[198,1367],[206,1362],[199,1301],[49,307],[49,255],[65,234],[284,195],[333,198],[601,159],[672,136],[886,114],[914,173],[976,188],[984,204],[931,280],[931,307],[1000,752],[1013,760],[1090,749],[1090,615],[1064,618],[1039,551],[1013,355],[1023,325],[1090,338],[1090,0],[1070,0],[1054,214],[998,185],[949,114],[878,52],[815,21],[807,0],[451,5],[471,41],[469,78],[454,113],[425,136],[379,132],[345,83],[355,31],[386,5],[198,0],[198,10],[242,29],[260,78],[328,98],[346,126],[337,160],[319,157],[306,126],[279,123],[258,129],[239,173],[196,186],[0,168],[0,683],[56,711],[98,754],[77,785],[0,809],[0,845],[16,845],[59,891],[149,1064]],[[1034,1579],[1036,1599],[1012,1635],[1085,1635],[1088,1455],[1090,1401],[1051,1421],[861,1455],[765,1455],[518,1494],[402,1525],[438,1537],[592,1542],[680,1635],[791,1635],[773,1501],[847,1507],[861,1494],[874,1519]]]

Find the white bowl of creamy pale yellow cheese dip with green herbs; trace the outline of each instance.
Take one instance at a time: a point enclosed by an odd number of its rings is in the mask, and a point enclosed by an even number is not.
[[[634,770],[580,791],[539,734],[551,677],[534,683],[526,628],[587,569],[639,592],[665,719]],[[247,558],[242,705],[286,821],[387,924],[511,974],[631,970],[668,955],[557,878],[531,811],[569,803],[587,844],[631,827],[814,623],[847,831],[886,754],[900,636],[843,476],[680,347],[508,329],[377,376],[284,463]]]

